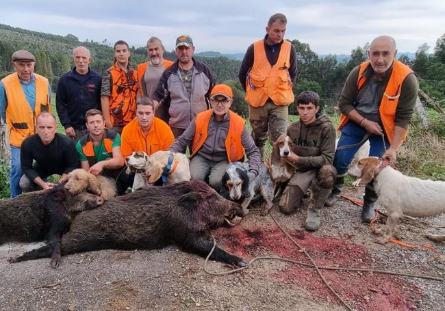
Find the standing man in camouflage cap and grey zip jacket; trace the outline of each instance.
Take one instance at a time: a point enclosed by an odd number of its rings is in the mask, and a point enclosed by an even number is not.
[[[176,39],[177,61],[164,71],[155,92],[155,109],[161,106],[168,115],[164,119],[173,135],[179,137],[196,115],[209,109],[208,98],[215,78],[207,65],[192,57],[193,40],[190,36]]]

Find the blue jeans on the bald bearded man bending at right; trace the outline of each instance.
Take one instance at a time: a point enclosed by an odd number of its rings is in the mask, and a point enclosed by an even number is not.
[[[344,150],[338,150],[341,146],[358,144],[361,139],[363,139],[366,135],[366,130],[361,126],[355,124],[355,122],[348,122],[345,126],[342,127],[340,131],[340,140],[338,141],[337,150],[335,151],[335,157],[333,161],[333,165],[337,169],[337,176],[344,176],[348,171],[348,165],[351,164],[353,160],[355,152],[359,150],[362,144],[357,146],[351,146],[351,148],[347,148]],[[369,138],[370,157],[381,157],[383,153],[385,153],[385,147],[390,148],[390,143],[387,141],[385,137],[385,145],[383,145],[383,139],[379,135],[370,135]]]

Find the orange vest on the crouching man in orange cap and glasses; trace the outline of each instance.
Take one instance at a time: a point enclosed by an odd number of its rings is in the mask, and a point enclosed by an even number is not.
[[[194,157],[194,154],[201,149],[204,144],[205,139],[207,139],[207,129],[209,126],[210,118],[212,117],[213,109],[202,111],[198,113],[194,121],[195,131],[192,143],[192,155],[190,158]],[[238,116],[238,114],[229,110],[229,132],[227,133],[227,138],[225,141],[227,159],[229,163],[240,161],[244,158],[244,146],[241,142],[241,134],[244,130],[244,124],[246,120]]]

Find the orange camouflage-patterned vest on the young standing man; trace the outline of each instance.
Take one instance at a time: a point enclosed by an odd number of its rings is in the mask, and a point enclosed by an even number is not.
[[[138,92],[138,72],[128,67],[128,72],[120,69],[117,62],[108,68],[111,74],[110,121],[113,125],[128,124],[136,117],[136,92]]]

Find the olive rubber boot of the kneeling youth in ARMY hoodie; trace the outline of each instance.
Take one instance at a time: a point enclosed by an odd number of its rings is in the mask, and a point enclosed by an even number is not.
[[[318,230],[321,226],[320,212],[325,200],[327,199],[331,189],[323,189],[318,185],[318,180],[314,179],[311,185],[311,198],[309,200],[309,208],[307,209],[307,217],[305,228],[309,231]]]

